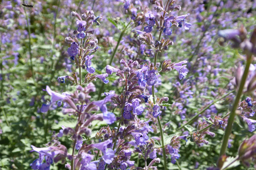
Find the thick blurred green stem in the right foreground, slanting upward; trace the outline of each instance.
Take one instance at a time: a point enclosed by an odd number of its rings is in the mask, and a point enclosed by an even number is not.
[[[224,137],[223,137],[219,158],[226,153],[227,146],[228,146],[228,139],[229,139],[230,133],[232,131],[232,124],[233,124],[233,121],[234,121],[234,118],[235,118],[235,115],[236,115],[236,108],[237,108],[237,106],[240,102],[240,98],[241,98],[241,95],[243,93],[244,84],[245,84],[245,81],[246,81],[246,78],[247,78],[247,75],[248,75],[248,72],[249,72],[249,67],[250,67],[251,62],[252,62],[252,55],[247,55],[247,61],[246,61],[244,73],[243,73],[243,76],[242,76],[241,83],[239,85],[238,92],[236,94],[235,102],[233,104],[232,110],[231,110],[229,118],[228,118],[228,125],[225,129],[225,134],[224,134]]]

